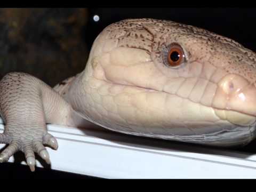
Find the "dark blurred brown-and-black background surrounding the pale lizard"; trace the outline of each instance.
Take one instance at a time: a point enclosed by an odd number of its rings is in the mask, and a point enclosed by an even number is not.
[[[54,86],[84,69],[91,45],[103,28],[127,18],[194,25],[256,51],[255,8],[0,9],[0,79],[11,71],[22,71]],[[254,153],[255,145],[252,142],[240,150]],[[9,163],[0,164],[0,172],[5,178],[91,178],[47,169],[31,173],[24,165]]]

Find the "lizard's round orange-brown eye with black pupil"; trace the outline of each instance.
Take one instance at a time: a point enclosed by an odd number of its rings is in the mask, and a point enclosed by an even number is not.
[[[166,66],[178,67],[186,61],[185,53],[182,47],[177,43],[172,43],[166,47],[163,60]]]

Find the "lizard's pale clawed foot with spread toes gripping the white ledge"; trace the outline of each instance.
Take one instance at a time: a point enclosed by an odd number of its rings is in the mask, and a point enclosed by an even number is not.
[[[25,153],[26,161],[31,171],[35,171],[36,160],[34,152],[43,158],[47,164],[51,164],[49,153],[44,145],[50,146],[55,150],[58,149],[57,140],[49,133],[45,133],[41,139],[38,139],[38,137],[18,139],[17,135],[16,137],[11,137],[6,134],[0,134],[0,142],[9,143],[9,146],[0,154],[0,163],[8,161],[14,153],[21,150]]]

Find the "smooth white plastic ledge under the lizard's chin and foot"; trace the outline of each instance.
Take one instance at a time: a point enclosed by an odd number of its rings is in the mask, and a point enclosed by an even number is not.
[[[1,124],[1,133],[3,128]],[[59,143],[57,151],[47,148],[54,170],[100,178],[256,178],[253,154],[74,127],[47,128]]]

